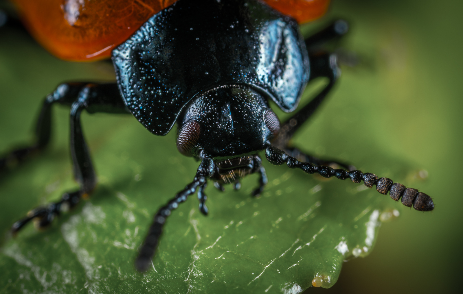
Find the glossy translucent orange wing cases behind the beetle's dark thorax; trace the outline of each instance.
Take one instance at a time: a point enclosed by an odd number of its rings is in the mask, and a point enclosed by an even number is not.
[[[27,29],[51,54],[69,61],[111,56],[152,15],[176,0],[12,0]],[[264,0],[299,23],[321,17],[330,0]]]

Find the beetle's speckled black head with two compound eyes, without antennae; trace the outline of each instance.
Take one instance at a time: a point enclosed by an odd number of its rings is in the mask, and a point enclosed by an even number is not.
[[[187,156],[204,150],[212,157],[255,153],[270,145],[280,122],[259,92],[238,86],[197,96],[178,121],[177,148]]]

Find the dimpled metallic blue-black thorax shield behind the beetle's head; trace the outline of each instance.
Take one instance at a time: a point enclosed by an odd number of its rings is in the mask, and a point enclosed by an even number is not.
[[[175,2],[114,49],[113,62],[127,108],[156,135],[192,99],[225,85],[293,111],[309,78],[297,23],[257,1]]]

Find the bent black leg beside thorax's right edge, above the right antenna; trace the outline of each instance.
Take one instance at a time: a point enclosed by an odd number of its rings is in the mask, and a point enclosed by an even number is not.
[[[302,107],[286,122],[282,123],[280,132],[272,141],[272,145],[277,148],[285,149],[287,147],[288,141],[294,135],[294,132],[297,131],[300,126],[312,116],[315,110],[317,110],[338,79],[339,68],[336,61],[336,54],[320,53],[316,55],[309,55],[309,57],[311,61],[310,80],[317,77],[327,77],[329,79],[329,83],[307,105]]]

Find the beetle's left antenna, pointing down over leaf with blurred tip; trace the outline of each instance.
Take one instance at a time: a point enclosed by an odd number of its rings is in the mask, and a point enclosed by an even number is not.
[[[156,251],[156,247],[159,242],[159,237],[161,237],[161,234],[163,233],[166,218],[170,215],[172,210],[177,208],[181,202],[185,202],[188,196],[194,194],[196,188],[206,184],[206,179],[213,175],[215,171],[213,159],[204,154],[204,151],[200,151],[200,158],[202,160],[198,170],[196,171],[196,176],[194,177],[193,182],[188,184],[185,189],[178,192],[177,195],[169,200],[165,206],[159,208],[155,214],[154,221],[148,230],[148,234],[140,248],[138,257],[135,260],[135,268],[138,271],[146,271],[150,267],[151,259],[154,256],[154,252]]]

